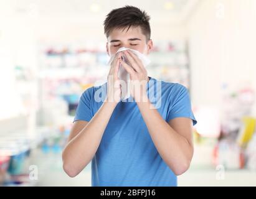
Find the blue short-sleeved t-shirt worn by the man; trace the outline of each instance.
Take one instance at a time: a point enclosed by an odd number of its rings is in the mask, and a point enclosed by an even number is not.
[[[185,86],[151,77],[147,86],[149,100],[166,122],[186,117],[197,123]],[[85,90],[74,121],[90,121],[106,94],[107,83]],[[111,115],[92,159],[92,186],[177,186],[176,175],[156,150],[132,97],[120,101]]]

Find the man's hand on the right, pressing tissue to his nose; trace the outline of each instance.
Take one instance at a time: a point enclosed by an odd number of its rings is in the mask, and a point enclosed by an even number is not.
[[[120,60],[125,70],[130,74],[130,93],[136,102],[143,101],[147,98],[146,84],[148,82],[148,73],[141,62],[131,50],[121,52],[130,62],[130,65]]]

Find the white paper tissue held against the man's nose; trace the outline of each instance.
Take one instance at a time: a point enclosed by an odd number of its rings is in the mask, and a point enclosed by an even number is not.
[[[138,58],[140,58],[144,67],[149,65],[150,60],[148,57],[146,57],[146,55],[144,55],[143,53],[140,53],[138,50],[128,49],[125,47],[121,47],[120,49],[118,49],[118,51],[115,53],[115,55],[112,55],[110,57],[110,60],[108,61],[108,65],[111,65],[114,58],[118,55],[119,52],[121,52],[123,50],[131,50],[133,53],[135,53],[138,56]],[[125,57],[123,57],[123,60],[125,61],[125,63],[128,63],[128,60],[126,60]],[[122,100],[127,99],[130,97],[130,75],[128,72],[126,72],[125,68],[121,65],[121,63],[120,63],[120,68],[119,68],[119,72],[118,72],[118,78],[125,82],[125,86],[121,85],[121,99]]]

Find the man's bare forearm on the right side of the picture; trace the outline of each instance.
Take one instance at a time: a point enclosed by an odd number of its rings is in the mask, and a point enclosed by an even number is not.
[[[137,104],[159,154],[173,172],[180,175],[189,167],[193,154],[192,146],[185,137],[166,123],[157,109],[150,109],[153,104],[149,99]]]

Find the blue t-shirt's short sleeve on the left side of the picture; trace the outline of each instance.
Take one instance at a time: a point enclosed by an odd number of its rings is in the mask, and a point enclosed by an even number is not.
[[[90,87],[83,92],[82,96],[79,99],[73,122],[77,120],[90,121],[90,119],[92,119],[92,96],[93,87]]]

